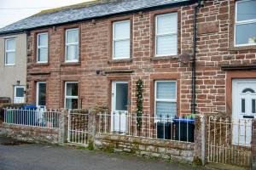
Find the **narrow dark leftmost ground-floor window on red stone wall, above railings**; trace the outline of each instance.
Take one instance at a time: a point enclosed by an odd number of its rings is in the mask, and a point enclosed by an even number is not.
[[[37,82],[37,96],[36,104],[45,106],[46,105],[46,82]]]

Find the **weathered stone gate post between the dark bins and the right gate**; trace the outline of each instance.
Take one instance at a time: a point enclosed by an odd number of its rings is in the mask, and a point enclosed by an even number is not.
[[[205,165],[206,161],[206,124],[204,115],[195,117],[195,148],[194,163]]]

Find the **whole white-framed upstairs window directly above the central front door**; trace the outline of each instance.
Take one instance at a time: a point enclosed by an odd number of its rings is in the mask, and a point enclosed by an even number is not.
[[[113,22],[113,59],[130,58],[130,20]]]

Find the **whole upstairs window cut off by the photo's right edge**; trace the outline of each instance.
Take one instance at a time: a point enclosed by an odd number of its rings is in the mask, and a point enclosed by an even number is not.
[[[234,43],[236,47],[256,45],[256,0],[236,2]]]

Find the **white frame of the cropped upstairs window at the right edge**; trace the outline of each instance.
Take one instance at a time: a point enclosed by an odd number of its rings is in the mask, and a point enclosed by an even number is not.
[[[236,44],[236,26],[240,25],[247,25],[247,24],[256,24],[256,19],[254,20],[242,20],[242,21],[237,21],[237,8],[238,8],[238,3],[244,3],[252,0],[241,0],[241,1],[236,1],[236,11],[235,11],[235,26],[234,26],[234,44],[235,47],[243,47],[243,46],[252,46],[256,45],[256,43],[244,43],[244,44]]]

